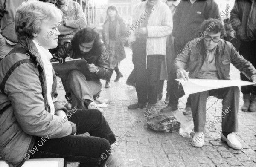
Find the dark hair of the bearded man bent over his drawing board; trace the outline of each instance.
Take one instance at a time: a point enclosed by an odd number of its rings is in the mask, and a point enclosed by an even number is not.
[[[102,48],[104,44],[103,41],[100,39],[99,32],[97,32],[95,28],[92,29],[90,27],[86,27],[81,29],[81,31],[79,30],[78,32],[76,32],[76,34],[71,40],[71,45],[73,49],[77,50],[79,49],[79,43],[89,43],[93,40],[95,40],[92,48],[93,52],[96,55],[101,54],[102,50],[99,48]]]

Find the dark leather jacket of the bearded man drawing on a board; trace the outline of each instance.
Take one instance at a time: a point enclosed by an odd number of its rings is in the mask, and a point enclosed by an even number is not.
[[[81,54],[79,48],[75,49],[70,42],[64,43],[60,49],[54,54],[51,61],[63,60],[69,56],[73,59],[84,58],[87,63],[94,64],[98,67],[97,74],[91,73],[89,70],[83,72],[87,80],[104,79],[107,80],[111,76],[108,57],[105,56],[105,46],[102,43],[100,46],[93,45],[93,48],[86,54]]]

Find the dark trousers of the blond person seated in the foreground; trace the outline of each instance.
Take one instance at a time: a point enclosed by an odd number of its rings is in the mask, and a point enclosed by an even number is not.
[[[38,152],[30,158],[64,158],[65,162],[79,162],[80,167],[104,167],[109,157],[111,144],[116,141],[108,122],[97,109],[78,109],[68,118],[76,124],[76,135],[47,139],[39,147],[37,137],[34,147]],[[90,133],[90,136],[79,134]],[[103,156],[102,156],[103,154]],[[106,156],[105,156],[106,155]]]

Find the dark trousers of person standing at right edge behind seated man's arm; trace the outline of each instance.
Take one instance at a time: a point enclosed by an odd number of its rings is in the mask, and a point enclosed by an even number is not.
[[[241,40],[241,45],[239,48],[239,54],[242,55],[246,60],[250,61],[255,67],[256,64],[256,40],[253,41],[243,41]],[[240,78],[242,81],[250,81],[245,75],[240,73]],[[256,95],[256,87],[253,85],[241,86],[241,92],[243,94]]]

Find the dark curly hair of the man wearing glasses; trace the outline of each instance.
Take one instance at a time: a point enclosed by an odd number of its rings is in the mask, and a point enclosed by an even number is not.
[[[221,23],[221,20],[209,18],[204,20],[200,28],[201,33],[204,31],[218,33],[221,32],[221,37],[225,34],[225,28]]]

